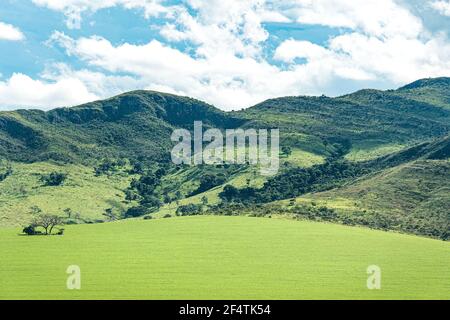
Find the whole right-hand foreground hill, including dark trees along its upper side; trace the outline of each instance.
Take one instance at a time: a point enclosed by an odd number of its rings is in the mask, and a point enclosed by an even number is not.
[[[259,189],[237,190],[231,200],[245,206],[245,213],[278,212],[446,240],[450,237],[449,174],[450,138],[446,137],[364,162],[338,159],[290,168]],[[222,212],[236,210],[233,203]]]

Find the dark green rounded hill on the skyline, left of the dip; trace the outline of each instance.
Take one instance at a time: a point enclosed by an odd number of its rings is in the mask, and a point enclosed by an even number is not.
[[[151,91],[49,112],[0,113],[0,156],[14,161],[88,162],[102,157],[168,159],[175,128],[240,122],[195,99]]]

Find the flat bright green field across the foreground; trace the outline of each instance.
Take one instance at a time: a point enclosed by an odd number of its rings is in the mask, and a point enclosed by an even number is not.
[[[450,298],[450,243],[396,233],[215,216],[19,232],[0,229],[0,299]],[[69,265],[81,290],[66,289]]]

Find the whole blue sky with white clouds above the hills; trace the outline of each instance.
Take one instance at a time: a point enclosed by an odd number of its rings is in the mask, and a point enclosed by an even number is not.
[[[450,76],[450,1],[3,0],[0,110],[133,89],[225,110]]]

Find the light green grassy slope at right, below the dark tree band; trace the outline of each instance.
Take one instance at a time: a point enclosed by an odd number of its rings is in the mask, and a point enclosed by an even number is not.
[[[296,203],[334,209],[339,213],[336,221],[347,224],[448,237],[449,172],[449,161],[414,161],[330,191],[298,197]],[[280,203],[287,206],[289,201]]]

